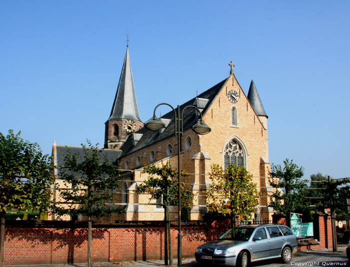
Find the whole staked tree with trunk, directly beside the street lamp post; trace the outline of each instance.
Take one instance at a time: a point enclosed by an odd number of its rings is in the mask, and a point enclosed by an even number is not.
[[[178,172],[173,169],[169,162],[161,167],[156,165],[144,165],[143,172],[149,174],[148,179],[136,187],[137,193],[150,194],[150,199],[162,199],[161,205],[164,208],[164,264],[168,264],[168,253],[170,265],[172,265],[171,256],[171,236],[169,206],[178,204]],[[181,176],[188,176],[184,170],[181,170]],[[181,182],[181,206],[192,206],[193,193],[190,186]]]

